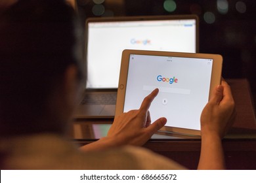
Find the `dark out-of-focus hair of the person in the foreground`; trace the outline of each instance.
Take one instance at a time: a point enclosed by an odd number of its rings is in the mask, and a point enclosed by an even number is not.
[[[35,122],[67,67],[77,65],[83,78],[78,24],[62,0],[20,0],[1,14],[0,134],[49,130]]]

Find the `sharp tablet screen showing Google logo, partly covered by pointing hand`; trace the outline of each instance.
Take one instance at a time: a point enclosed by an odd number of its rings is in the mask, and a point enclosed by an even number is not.
[[[200,130],[200,116],[209,99],[213,59],[130,54],[123,111],[139,108],[146,95],[160,92],[150,106],[152,122]]]

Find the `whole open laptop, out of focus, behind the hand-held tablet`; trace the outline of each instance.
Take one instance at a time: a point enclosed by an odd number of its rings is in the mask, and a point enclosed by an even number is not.
[[[114,118],[123,50],[198,52],[198,24],[196,15],[87,19],[87,84],[75,118]]]

